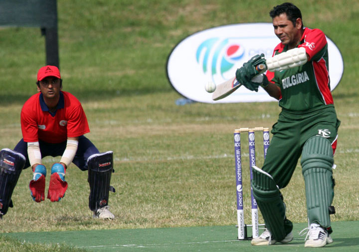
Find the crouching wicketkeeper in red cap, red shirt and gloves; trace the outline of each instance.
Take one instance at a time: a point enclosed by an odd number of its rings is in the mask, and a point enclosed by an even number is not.
[[[88,173],[89,208],[94,218],[114,219],[108,206],[113,153],[100,153],[84,136],[89,133],[85,112],[78,99],[62,91],[62,79],[56,66],[47,65],[37,72],[37,93],[21,109],[22,139],[14,150],[0,151],[0,218],[13,207],[11,196],[22,169],[31,167],[31,199],[45,200],[45,179],[49,178],[47,199],[58,202],[67,190],[66,169],[74,163]],[[60,156],[49,170],[42,163],[46,156]],[[50,174],[48,174],[50,173]],[[73,188],[76,188],[73,185]]]

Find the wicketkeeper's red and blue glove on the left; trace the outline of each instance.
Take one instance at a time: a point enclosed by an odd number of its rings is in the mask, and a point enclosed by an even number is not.
[[[45,200],[45,177],[46,167],[44,165],[35,166],[33,169],[33,178],[29,184],[31,197],[35,202]]]

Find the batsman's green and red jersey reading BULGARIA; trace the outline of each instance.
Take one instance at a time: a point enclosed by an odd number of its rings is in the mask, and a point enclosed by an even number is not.
[[[330,90],[328,43],[319,29],[305,28],[298,47],[304,47],[309,60],[304,65],[282,71],[267,71],[268,80],[281,89],[279,106],[291,111],[306,111],[333,104]],[[278,44],[273,55],[287,51]]]

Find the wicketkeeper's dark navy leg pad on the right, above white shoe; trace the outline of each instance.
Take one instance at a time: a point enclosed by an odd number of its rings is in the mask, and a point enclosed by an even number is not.
[[[89,208],[96,211],[108,205],[109,191],[113,172],[113,152],[91,155],[87,160],[88,182],[90,184]]]

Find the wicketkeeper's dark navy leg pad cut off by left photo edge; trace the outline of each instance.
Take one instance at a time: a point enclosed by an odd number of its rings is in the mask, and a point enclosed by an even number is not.
[[[20,173],[25,165],[25,157],[10,149],[0,151],[0,218],[12,207],[11,196]]]

